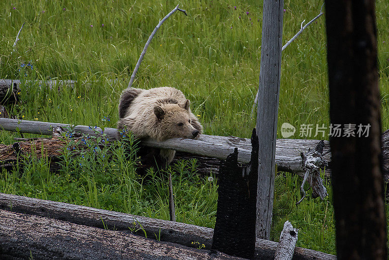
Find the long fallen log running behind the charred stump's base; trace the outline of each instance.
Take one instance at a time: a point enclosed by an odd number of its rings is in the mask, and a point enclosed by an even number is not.
[[[173,242],[185,246],[194,246],[192,242],[197,241],[201,244],[204,243],[205,249],[211,249],[212,244],[212,228],[156,220],[86,206],[0,193],[0,209],[117,231],[130,230],[130,228],[134,230],[142,228],[146,232],[147,238],[155,239],[157,235],[157,237],[160,236],[161,241]],[[0,223],[2,223],[2,219],[0,217]],[[143,230],[138,230],[137,234],[143,235]],[[118,233],[122,234],[122,232]],[[277,242],[257,239],[254,259],[273,260],[277,244]],[[335,260],[336,257],[322,252],[296,247],[293,259]]]

